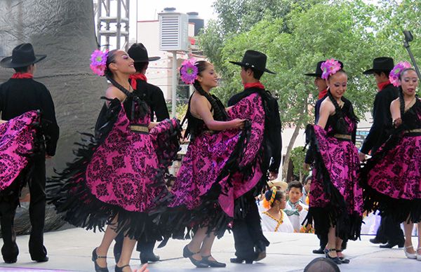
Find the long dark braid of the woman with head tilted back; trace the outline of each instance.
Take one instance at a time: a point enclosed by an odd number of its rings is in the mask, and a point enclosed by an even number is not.
[[[128,115],[128,117],[131,118],[131,120],[134,120],[135,118],[143,118],[149,112],[149,107],[147,106],[146,102],[140,100],[140,98],[137,95],[134,95],[133,93],[131,93],[131,91],[127,90],[126,88],[121,86],[121,84],[119,84],[117,81],[115,81],[114,74],[112,73],[111,69],[109,69],[109,64],[115,62],[116,52],[117,49],[108,52],[104,76],[110,83],[112,83],[113,86],[115,86],[116,88],[121,90],[121,92],[123,92],[125,95],[127,95],[129,101],[131,100],[131,103],[128,103],[129,107],[126,108],[126,114],[130,114]],[[138,104],[138,107],[135,107],[135,104]]]

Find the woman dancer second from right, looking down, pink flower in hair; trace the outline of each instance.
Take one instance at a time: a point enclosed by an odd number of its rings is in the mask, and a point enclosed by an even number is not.
[[[339,62],[326,60],[322,70],[328,97],[321,103],[317,125],[307,125],[306,132],[312,154],[306,160],[314,158],[307,219],[308,222],[314,219],[316,234],[328,233],[326,257],[343,264],[349,260],[342,259],[342,240],[356,240],[361,231],[362,189],[358,181],[358,150],[354,145],[358,118],[351,102],[343,97],[347,74]]]

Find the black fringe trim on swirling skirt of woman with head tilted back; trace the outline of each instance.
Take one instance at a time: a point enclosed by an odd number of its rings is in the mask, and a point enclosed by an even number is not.
[[[98,200],[91,193],[91,189],[86,186],[86,168],[95,150],[106,139],[108,132],[112,130],[116,118],[121,110],[121,104],[112,101],[109,104],[107,113],[103,113],[102,122],[97,128],[95,135],[82,133],[86,136],[80,143],[76,143],[79,149],[74,151],[76,159],[72,163],[67,163],[67,168],[62,172],[56,172],[56,176],[48,179],[47,182],[47,200],[53,203],[58,214],[73,224],[74,226],[83,227],[84,229],[95,232],[104,231],[105,225],[109,224],[114,227],[116,232],[123,231],[125,236],[136,240],[161,240],[160,230],[152,222],[152,217],[148,212],[130,212],[124,210],[119,205],[112,205]],[[151,186],[162,186],[161,194],[156,196],[154,203],[156,207],[166,206],[170,202],[172,195],[166,190],[163,177],[166,172],[166,166],[177,156],[180,149],[180,124],[177,123],[168,135],[160,135],[166,138],[166,142],[159,141],[163,149],[159,149],[160,163],[163,168],[156,169],[156,175],[153,177],[154,183]],[[168,136],[168,137],[167,137]],[[171,154],[164,155],[164,149],[173,148]]]

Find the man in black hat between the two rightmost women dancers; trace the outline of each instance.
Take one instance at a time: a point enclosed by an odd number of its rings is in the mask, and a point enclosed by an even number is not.
[[[373,125],[359,152],[360,161],[365,161],[366,155],[370,152],[374,154],[386,142],[393,129],[390,103],[399,95],[398,90],[389,81],[389,72],[393,67],[394,62],[391,57],[376,57],[373,60],[373,68],[363,72],[363,74],[374,74],[378,92],[373,105]],[[380,245],[382,248],[392,248],[395,245],[403,247],[404,241],[400,224],[394,222],[391,217],[382,217],[375,238],[370,239],[373,244],[387,243]]]

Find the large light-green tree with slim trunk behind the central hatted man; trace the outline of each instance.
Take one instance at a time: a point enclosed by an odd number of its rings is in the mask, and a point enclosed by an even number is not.
[[[349,74],[346,96],[360,116],[373,101],[372,79],[361,72],[370,66],[375,48],[370,25],[375,7],[363,1],[315,4],[308,9],[296,8],[288,18],[267,15],[247,32],[232,36],[221,49],[222,86],[215,93],[222,100],[241,90],[240,68],[229,60],[241,60],[245,50],[260,50],[267,54],[267,67],[276,75],[265,74],[262,82],[278,98],[283,128],[295,128],[288,142],[283,173],[288,172],[290,151],[300,128],[313,122],[312,107],[316,88],[312,78],[303,76],[313,71],[319,60],[334,57],[345,63]],[[289,32],[284,32],[287,25]],[[362,46],[364,45],[364,46]],[[366,46],[368,45],[368,46]],[[361,62],[367,60],[367,62]]]

